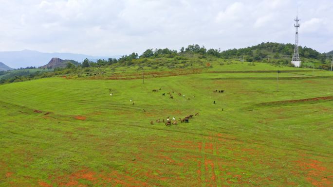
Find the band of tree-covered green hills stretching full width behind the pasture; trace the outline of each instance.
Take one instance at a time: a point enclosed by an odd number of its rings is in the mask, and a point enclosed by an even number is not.
[[[72,63],[66,61],[64,67],[56,67],[47,69],[43,67],[35,68],[29,71],[25,68],[21,71],[2,72],[0,76],[0,84],[20,82],[31,79],[61,76],[61,75],[77,75],[83,74],[93,75],[94,68],[107,68],[115,70],[119,67],[146,67],[150,69],[172,69],[172,68],[191,68],[194,64],[198,67],[205,67],[206,63],[219,62],[231,63],[232,61],[240,62],[262,62],[273,66],[290,66],[292,55],[294,52],[293,44],[281,44],[266,42],[252,47],[241,49],[230,49],[221,51],[220,49],[206,49],[198,44],[182,47],[179,51],[165,49],[147,49],[141,55],[132,52],[129,55],[123,55],[120,58],[98,59],[91,61],[85,59],[82,63]],[[329,70],[331,68],[332,54],[325,54],[315,51],[308,47],[299,46],[299,54],[302,61],[302,67],[318,68]],[[48,70],[48,71],[46,71]]]

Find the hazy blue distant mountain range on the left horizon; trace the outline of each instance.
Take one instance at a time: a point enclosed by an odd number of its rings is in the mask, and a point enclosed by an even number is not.
[[[95,61],[99,58],[119,58],[120,55],[115,56],[90,56],[85,54],[74,53],[47,53],[31,50],[23,51],[0,51],[0,62],[12,67],[12,68],[25,68],[30,66],[43,66],[52,58],[70,59],[77,62],[82,62],[84,59]]]

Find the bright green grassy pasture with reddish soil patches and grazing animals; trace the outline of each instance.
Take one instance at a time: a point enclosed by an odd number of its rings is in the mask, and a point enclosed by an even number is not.
[[[222,62],[0,85],[0,186],[332,186],[333,74]]]

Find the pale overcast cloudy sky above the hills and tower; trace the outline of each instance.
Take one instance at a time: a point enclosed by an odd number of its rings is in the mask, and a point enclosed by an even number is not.
[[[0,51],[120,55],[271,41],[333,50],[332,0],[0,0]]]

